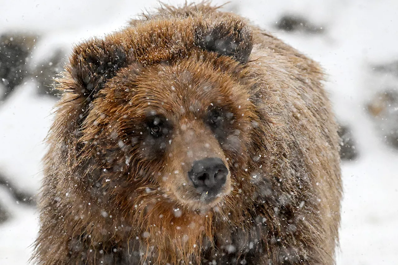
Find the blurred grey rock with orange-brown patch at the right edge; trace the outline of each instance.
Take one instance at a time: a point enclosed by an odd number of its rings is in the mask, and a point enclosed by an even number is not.
[[[398,84],[376,94],[367,110],[385,142],[398,149]]]

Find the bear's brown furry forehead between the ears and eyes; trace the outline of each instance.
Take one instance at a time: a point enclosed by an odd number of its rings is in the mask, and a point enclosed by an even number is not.
[[[249,96],[242,86],[206,62],[160,63],[139,71],[137,67],[121,70],[107,84],[112,95],[114,90],[125,92],[129,113],[133,110],[140,116],[150,110],[167,117],[170,113],[201,113],[212,107],[239,113],[248,104]]]

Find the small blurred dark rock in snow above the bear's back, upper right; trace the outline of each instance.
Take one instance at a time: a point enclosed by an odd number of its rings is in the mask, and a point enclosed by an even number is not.
[[[294,32],[322,33],[324,27],[316,26],[306,18],[298,15],[283,15],[276,23],[277,29]]]

